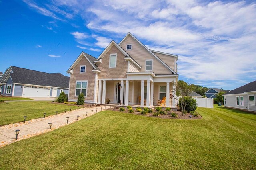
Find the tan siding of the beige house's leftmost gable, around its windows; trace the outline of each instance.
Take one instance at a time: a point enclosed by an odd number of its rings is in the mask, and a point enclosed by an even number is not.
[[[86,72],[80,74],[80,65],[86,65]],[[87,96],[85,98],[86,101],[92,102],[94,100],[94,80],[95,73],[92,72],[92,65],[89,61],[82,57],[82,59],[78,62],[78,64],[74,67],[73,73],[70,75],[70,89],[68,98],[71,100],[77,100],[78,96],[75,96],[76,91],[76,81],[78,80],[88,80],[87,84]]]

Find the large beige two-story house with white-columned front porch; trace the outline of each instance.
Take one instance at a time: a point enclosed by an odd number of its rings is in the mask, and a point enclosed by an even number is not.
[[[85,102],[143,106],[156,105],[164,96],[166,107],[175,107],[169,98],[178,79],[177,55],[148,49],[131,33],[118,44],[114,40],[96,59],[82,52],[68,69],[69,101],[83,92]],[[176,95],[174,94],[174,97]]]

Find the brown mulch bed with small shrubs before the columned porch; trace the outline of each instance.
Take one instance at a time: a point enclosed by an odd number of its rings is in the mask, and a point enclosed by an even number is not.
[[[112,108],[109,108],[107,110],[112,110],[112,111],[119,111],[119,108],[120,107],[112,107]],[[130,113],[128,111],[128,109],[126,107],[123,107],[125,108],[125,111],[119,111],[119,112],[122,112],[122,113]],[[136,108],[132,107],[132,109],[134,110],[133,113],[130,113],[130,114],[134,114],[134,115],[142,115],[140,112],[138,112],[136,110]],[[143,109],[142,109],[143,110]],[[190,113],[186,113],[185,115],[181,115],[181,112],[180,111],[166,111],[167,112],[167,115],[160,115],[160,116],[154,116],[153,114],[156,112],[156,109],[153,108],[153,112],[152,113],[147,113],[146,115],[142,115],[142,116],[147,116],[147,117],[158,117],[158,118],[162,118],[162,119],[202,119],[202,116],[198,113],[198,117],[194,117],[192,114]],[[162,110],[165,111],[165,109],[163,108]],[[172,117],[171,116],[171,113],[176,113],[178,115],[178,117]],[[191,118],[189,118],[189,116],[192,116]]]

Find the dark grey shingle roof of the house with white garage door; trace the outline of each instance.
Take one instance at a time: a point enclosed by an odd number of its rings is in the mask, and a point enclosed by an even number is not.
[[[69,77],[61,73],[46,73],[26,68],[11,66],[10,76],[13,83],[33,84],[39,86],[50,86],[68,88]]]

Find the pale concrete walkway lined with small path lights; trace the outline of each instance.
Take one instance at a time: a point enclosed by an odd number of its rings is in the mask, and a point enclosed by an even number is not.
[[[110,106],[106,106],[106,109],[108,108],[110,108]],[[101,111],[101,109],[104,110],[104,106],[93,107],[93,108],[82,108],[79,110],[73,110],[71,112],[68,111],[66,113],[60,113],[56,116],[52,115],[52,116],[46,117],[46,119],[39,118],[38,121],[33,121],[32,123],[26,122],[28,124],[24,123],[20,126],[2,129],[0,130],[0,144],[5,144],[7,143],[7,141],[10,141],[8,142],[8,144],[14,142],[16,139],[16,135],[14,131],[17,129],[20,130],[18,139],[25,139],[31,135],[35,135],[35,134],[38,135],[40,133],[50,131],[50,127],[48,125],[48,123],[50,122],[52,123],[51,128],[56,129],[58,127],[68,125],[72,122],[77,121],[77,115],[80,116],[78,121],[88,116],[91,116],[92,113],[93,114],[96,113],[96,109],[97,109],[97,112],[99,112]],[[86,116],[86,112],[88,112],[87,116]],[[66,117],[69,117],[68,124],[67,124]]]

